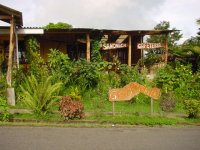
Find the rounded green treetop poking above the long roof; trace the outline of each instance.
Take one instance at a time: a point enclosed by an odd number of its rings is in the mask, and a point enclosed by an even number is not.
[[[72,28],[71,24],[64,23],[64,22],[58,22],[58,23],[49,23],[48,25],[43,27],[44,29],[70,29]]]

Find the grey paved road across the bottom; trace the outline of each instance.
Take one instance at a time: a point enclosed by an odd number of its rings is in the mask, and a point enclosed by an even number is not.
[[[200,150],[200,127],[0,127],[0,150]]]

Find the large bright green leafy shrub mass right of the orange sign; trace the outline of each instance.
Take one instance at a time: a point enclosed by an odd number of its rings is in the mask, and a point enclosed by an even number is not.
[[[163,93],[173,92],[178,102],[200,98],[200,73],[193,74],[190,64],[166,65],[157,73],[155,83]]]

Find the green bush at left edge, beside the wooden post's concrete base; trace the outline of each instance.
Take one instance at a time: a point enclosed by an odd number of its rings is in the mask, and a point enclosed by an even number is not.
[[[0,120],[8,121],[10,118],[9,105],[6,99],[0,95]]]

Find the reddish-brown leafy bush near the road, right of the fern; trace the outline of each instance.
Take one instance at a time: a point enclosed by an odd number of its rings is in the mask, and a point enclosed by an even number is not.
[[[60,101],[60,111],[65,119],[82,118],[84,107],[80,101],[73,101],[71,97],[65,96]]]

